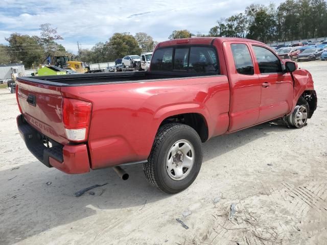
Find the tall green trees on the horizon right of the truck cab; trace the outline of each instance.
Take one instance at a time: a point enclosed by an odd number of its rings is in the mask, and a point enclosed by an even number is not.
[[[190,36],[240,37],[265,43],[325,37],[327,4],[325,0],[287,0],[278,7],[251,4],[243,13],[217,20],[208,34],[180,30],[169,38]]]

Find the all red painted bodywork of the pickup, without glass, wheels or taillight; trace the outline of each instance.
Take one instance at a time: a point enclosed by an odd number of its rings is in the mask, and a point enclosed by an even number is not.
[[[230,44],[245,43],[254,75],[238,74]],[[63,163],[50,159],[65,173],[85,173],[89,168],[146,160],[161,122],[177,114],[203,116],[208,138],[248,128],[292,111],[305,90],[313,90],[310,73],[260,74],[251,45],[265,44],[239,38],[189,38],[159,43],[155,50],[173,45],[214,45],[220,73],[217,76],[144,80],[88,86],[48,86],[17,81],[18,101],[28,123],[64,145]],[[284,61],[282,61],[284,62]],[[151,67],[150,67],[151,69]],[[268,81],[266,89],[262,83]],[[36,96],[36,107],[26,102]],[[62,98],[92,103],[87,142],[68,144],[62,122]]]

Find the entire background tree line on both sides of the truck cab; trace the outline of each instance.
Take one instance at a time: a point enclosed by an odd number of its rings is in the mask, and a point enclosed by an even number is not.
[[[175,30],[168,39],[205,37],[241,37],[265,43],[327,36],[327,4],[325,0],[286,0],[275,6],[251,4],[244,12],[221,18],[207,34],[192,34],[189,30]],[[13,33],[6,38],[9,45],[0,44],[0,64],[22,62],[26,67],[42,64],[49,55],[69,55],[56,41],[61,40],[51,24],[40,25],[40,36]],[[98,42],[91,49],[81,49],[75,60],[102,63],[151,52],[157,44],[144,32],[114,33],[106,42]]]

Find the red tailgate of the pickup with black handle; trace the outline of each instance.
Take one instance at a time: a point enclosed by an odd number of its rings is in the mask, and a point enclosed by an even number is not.
[[[62,119],[60,87],[17,79],[17,99],[28,123],[61,144],[68,143]]]

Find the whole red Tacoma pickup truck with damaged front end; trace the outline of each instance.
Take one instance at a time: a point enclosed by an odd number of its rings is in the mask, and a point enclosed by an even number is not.
[[[307,70],[264,43],[221,37],[161,42],[150,71],[17,78],[16,97],[20,135],[46,166],[143,163],[167,193],[195,180],[201,142],[276,118],[302,128],[317,106]]]

